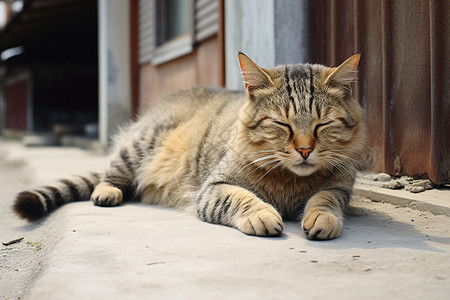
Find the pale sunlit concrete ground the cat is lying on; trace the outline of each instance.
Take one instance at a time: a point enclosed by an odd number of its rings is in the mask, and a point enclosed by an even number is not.
[[[450,216],[404,203],[355,197],[325,242],[295,222],[258,238],[140,204],[72,203],[31,225],[11,212],[23,189],[105,166],[0,140],[0,239],[24,238],[0,245],[0,299],[450,299]]]

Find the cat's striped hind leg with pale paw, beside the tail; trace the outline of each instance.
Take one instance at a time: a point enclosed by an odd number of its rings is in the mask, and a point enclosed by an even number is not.
[[[134,176],[134,166],[126,148],[122,148],[111,159],[109,169],[91,195],[94,205],[116,206],[123,201],[123,191]]]

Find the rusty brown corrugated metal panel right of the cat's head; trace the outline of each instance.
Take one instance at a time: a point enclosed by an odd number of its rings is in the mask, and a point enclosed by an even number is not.
[[[450,1],[318,0],[310,13],[314,62],[362,54],[368,167],[449,182]]]

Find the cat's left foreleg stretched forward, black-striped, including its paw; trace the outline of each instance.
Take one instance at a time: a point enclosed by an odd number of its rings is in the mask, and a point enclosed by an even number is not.
[[[273,206],[236,185],[204,185],[196,197],[196,208],[203,221],[232,226],[249,235],[279,236],[283,231],[283,221]]]

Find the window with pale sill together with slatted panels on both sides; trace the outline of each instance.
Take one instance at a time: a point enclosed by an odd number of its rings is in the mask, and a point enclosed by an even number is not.
[[[190,53],[194,43],[217,34],[218,20],[218,0],[139,0],[139,63]]]

